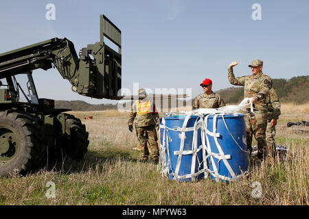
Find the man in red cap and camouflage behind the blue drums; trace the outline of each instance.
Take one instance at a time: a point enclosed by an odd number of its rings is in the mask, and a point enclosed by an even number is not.
[[[211,90],[211,79],[205,79],[200,84],[200,86],[203,88],[203,94],[196,96],[192,103],[192,110],[199,108],[218,108],[225,106],[225,101],[223,101],[220,94],[216,94]]]

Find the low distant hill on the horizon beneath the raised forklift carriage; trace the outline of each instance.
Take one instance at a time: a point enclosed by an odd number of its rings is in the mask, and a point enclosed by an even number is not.
[[[71,109],[74,111],[96,111],[96,110],[113,110],[117,109],[117,105],[98,104],[93,105],[85,101],[55,101],[56,109]]]

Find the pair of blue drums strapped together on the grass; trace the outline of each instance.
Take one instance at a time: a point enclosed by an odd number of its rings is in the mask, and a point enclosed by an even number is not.
[[[233,181],[247,171],[244,115],[191,116],[185,127],[187,131],[183,129],[185,117],[160,118],[160,150],[164,151],[163,166],[169,179],[192,181],[209,176],[216,181]],[[201,126],[196,126],[198,123]],[[207,131],[203,129],[206,125]],[[185,131],[183,149],[182,131]]]

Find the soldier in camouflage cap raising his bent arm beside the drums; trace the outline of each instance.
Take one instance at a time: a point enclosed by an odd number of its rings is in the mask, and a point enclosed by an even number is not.
[[[253,98],[253,112],[255,116],[251,117],[248,113],[245,116],[247,148],[252,152],[252,137],[258,142],[258,159],[264,159],[267,156],[266,144],[266,126],[267,126],[267,104],[266,99],[270,94],[273,84],[271,77],[262,73],[263,62],[261,60],[253,60],[249,67],[252,75],[235,77],[233,74],[233,66],[237,62],[232,62],[228,68],[229,83],[237,86],[244,86],[244,98]],[[249,112],[249,109],[248,109]]]

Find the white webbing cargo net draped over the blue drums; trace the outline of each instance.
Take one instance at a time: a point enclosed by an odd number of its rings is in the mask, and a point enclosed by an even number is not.
[[[162,118],[162,122],[160,124],[160,128],[163,129],[163,136],[162,140],[163,142],[160,142],[160,159],[159,159],[159,169],[161,169],[162,175],[168,176],[172,175],[174,180],[185,180],[185,179],[191,179],[192,181],[196,180],[196,177],[200,175],[202,172],[205,173],[205,178],[207,178],[210,175],[212,175],[216,181],[225,180],[225,181],[234,181],[236,179],[239,179],[242,177],[242,175],[236,175],[231,166],[229,165],[229,162],[227,162],[227,159],[231,159],[231,155],[225,155],[225,153],[222,150],[222,147],[220,146],[218,142],[218,138],[220,137],[220,133],[216,132],[216,120],[218,116],[222,117],[222,120],[225,123],[225,127],[227,128],[227,131],[229,131],[229,127],[227,127],[227,123],[225,122],[224,116],[229,115],[239,115],[240,111],[246,111],[247,108],[251,109],[251,112],[253,113],[253,98],[246,98],[242,100],[242,102],[239,105],[228,105],[225,107],[220,107],[217,109],[198,109],[193,110],[191,112],[179,112],[174,113],[170,112],[168,114],[165,114]],[[183,121],[183,127],[166,127],[165,126],[165,117],[170,116],[176,116],[176,115],[185,115],[185,120]],[[213,117],[213,131],[209,131],[207,129],[207,121],[208,117],[210,115],[214,115]],[[196,118],[196,121],[194,123],[194,127],[187,127],[187,123],[191,116],[198,116]],[[201,145],[198,145],[198,129],[201,129]],[[179,131],[181,132],[179,134],[179,138],[181,138],[181,143],[179,146],[179,151],[174,151],[174,155],[178,155],[178,159],[176,162],[176,168],[174,171],[172,171],[172,166],[170,164],[170,138],[169,138],[169,131]],[[192,150],[191,151],[184,151],[185,146],[185,133],[186,131],[193,131],[193,139],[192,139]],[[159,135],[161,131],[159,131]],[[207,134],[205,134],[205,132]],[[231,131],[229,131],[231,137],[236,142],[235,138],[233,137]],[[214,142],[216,143],[216,147],[219,151],[219,153],[213,153],[211,152],[211,147],[209,144],[209,137],[211,136],[214,138]],[[160,136],[161,137],[161,136]],[[161,138],[160,138],[161,139]],[[165,145],[166,144],[166,145]],[[244,151],[242,147],[236,142],[239,149],[241,151]],[[198,152],[203,152],[203,160],[198,159]],[[244,151],[245,153],[248,153],[247,151]],[[192,154],[192,165],[191,165],[191,172],[187,175],[179,175],[179,170],[181,166],[181,159],[183,155],[190,155]],[[225,164],[227,170],[229,171],[229,177],[219,175],[219,170],[216,166],[216,162],[214,161],[214,157],[218,159],[218,163],[222,160],[222,162]],[[210,159],[211,166],[213,170],[210,170],[207,159]],[[201,164],[203,164],[203,168],[201,170],[198,170],[196,172],[196,159],[198,163],[198,168],[201,168]]]

